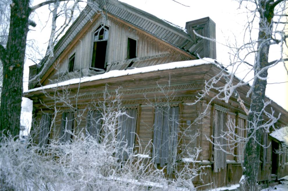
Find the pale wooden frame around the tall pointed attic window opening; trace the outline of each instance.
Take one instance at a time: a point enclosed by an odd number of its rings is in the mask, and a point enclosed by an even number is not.
[[[97,73],[105,73],[105,71],[107,70],[107,59],[108,59],[108,49],[109,49],[109,37],[110,37],[110,26],[107,26],[105,25],[104,27],[104,24],[101,23],[99,24],[99,26],[96,28],[96,30],[92,33],[92,40],[91,40],[91,59],[90,59],[90,65],[89,65],[89,69],[92,69],[92,70],[95,70]],[[103,27],[103,28],[102,28]],[[104,36],[105,36],[105,30],[108,31],[108,37],[107,39],[98,39],[95,41],[94,37],[95,37],[95,34],[100,32],[100,29],[104,29]],[[101,30],[102,30],[101,29]],[[99,36],[99,35],[98,35]],[[106,45],[106,53],[105,53],[105,61],[104,61],[104,69],[101,69],[101,68],[96,68],[96,67],[93,67],[93,52],[94,52],[94,43],[95,42],[104,42],[104,41],[107,41],[107,45]],[[96,55],[95,55],[95,59],[96,59]]]

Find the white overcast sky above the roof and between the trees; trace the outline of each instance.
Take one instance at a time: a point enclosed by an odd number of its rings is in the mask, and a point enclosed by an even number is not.
[[[216,40],[220,43],[226,44],[227,40],[236,39],[241,42],[241,35],[243,35],[243,28],[246,23],[246,14],[243,14],[245,10],[237,10],[239,4],[232,0],[177,0],[178,2],[190,6],[182,6],[172,0],[120,0],[132,6],[135,6],[141,10],[149,12],[160,19],[165,19],[178,26],[185,28],[187,21],[200,19],[203,17],[210,17],[216,23]],[[40,0],[35,0],[33,5],[41,2]],[[41,20],[47,20],[49,12],[47,12],[47,6],[38,10],[37,17],[46,18]],[[40,16],[41,15],[41,16]],[[38,20],[35,20],[38,23]],[[38,24],[38,28],[43,27],[45,24]],[[46,50],[49,34],[45,30],[29,32],[28,39],[37,39],[40,41],[39,48]],[[46,28],[47,30],[47,28]],[[49,31],[49,30],[48,30]],[[254,34],[254,38],[257,38],[257,33]],[[43,46],[42,46],[43,45]],[[229,52],[228,48],[225,48],[221,44],[217,44],[217,60],[223,64],[229,63]],[[270,50],[271,55],[270,60],[279,55],[277,47]],[[31,65],[29,60],[26,60],[26,75],[27,66]],[[29,69],[28,69],[29,71]],[[279,64],[273,69],[269,69],[269,79],[268,83],[275,82],[285,82],[287,81],[287,75],[284,70],[284,66]],[[240,74],[241,75],[241,74]],[[24,91],[27,90],[24,87]],[[288,83],[282,84],[268,84],[266,88],[266,95],[273,101],[277,102],[280,106],[288,110]]]

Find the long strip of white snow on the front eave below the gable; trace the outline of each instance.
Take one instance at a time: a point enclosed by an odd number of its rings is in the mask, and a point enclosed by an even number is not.
[[[107,79],[107,78],[114,78],[114,77],[120,77],[120,76],[132,75],[132,74],[148,73],[148,72],[153,72],[153,71],[162,71],[162,70],[169,70],[169,69],[176,69],[176,68],[187,68],[191,66],[211,64],[211,63],[215,63],[215,60],[211,58],[203,58],[201,60],[199,59],[199,60],[171,62],[168,64],[159,64],[155,66],[134,68],[130,70],[112,70],[103,74],[98,74],[98,75],[89,76],[89,77],[82,77],[82,78],[74,78],[71,80],[66,80],[63,82],[55,83],[55,84],[49,84],[46,86],[30,89],[24,93],[29,93],[29,92],[34,92],[34,91],[39,91],[39,90],[44,90],[44,89],[51,89],[51,88],[56,88],[56,87],[61,87],[61,86],[68,86],[71,84],[79,84],[83,82]]]

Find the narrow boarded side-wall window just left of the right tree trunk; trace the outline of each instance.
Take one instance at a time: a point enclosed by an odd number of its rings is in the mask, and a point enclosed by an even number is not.
[[[246,119],[240,118],[238,116],[238,124],[237,124],[237,135],[239,136],[239,140],[242,139],[242,141],[237,143],[237,161],[243,161],[244,160],[244,140],[246,136]]]

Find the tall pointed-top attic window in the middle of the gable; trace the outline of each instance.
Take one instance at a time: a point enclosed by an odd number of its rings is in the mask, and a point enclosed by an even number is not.
[[[93,34],[93,53],[91,68],[96,71],[106,70],[106,52],[109,27],[100,25]]]

